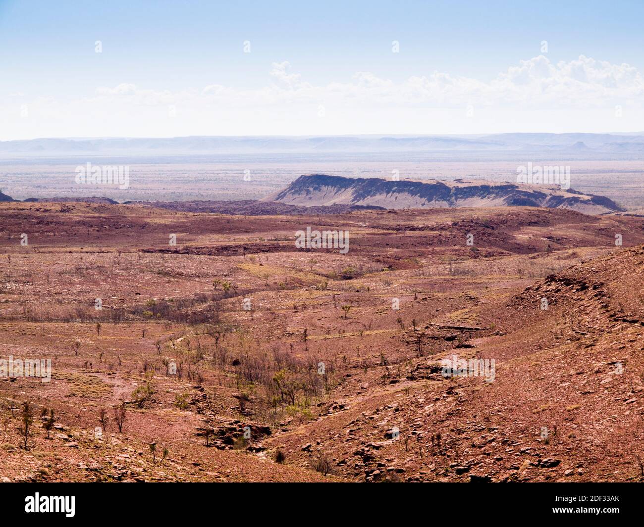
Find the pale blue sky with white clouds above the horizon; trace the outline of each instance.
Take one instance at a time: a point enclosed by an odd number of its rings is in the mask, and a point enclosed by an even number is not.
[[[0,0],[0,140],[644,129],[644,2]]]

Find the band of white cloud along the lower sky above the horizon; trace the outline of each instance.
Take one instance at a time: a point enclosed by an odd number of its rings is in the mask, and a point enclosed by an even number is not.
[[[540,55],[484,82],[435,71],[403,82],[361,71],[315,86],[274,62],[261,88],[183,91],[121,83],[73,102],[6,100],[0,139],[189,134],[488,133],[640,130],[644,79],[629,64]],[[20,100],[19,100],[20,99]],[[21,106],[29,108],[28,117]],[[614,107],[623,107],[618,120]],[[475,111],[466,118],[468,105]],[[167,108],[176,107],[170,118]],[[323,116],[318,112],[325,108]]]

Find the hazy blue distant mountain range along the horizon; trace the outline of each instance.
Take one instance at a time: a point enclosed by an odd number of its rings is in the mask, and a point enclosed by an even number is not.
[[[644,154],[644,132],[632,134],[506,133],[477,136],[189,136],[43,138],[0,142],[0,156],[187,155],[244,153],[631,153]]]

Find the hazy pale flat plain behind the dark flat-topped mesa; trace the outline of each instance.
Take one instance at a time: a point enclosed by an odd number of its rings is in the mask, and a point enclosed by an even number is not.
[[[500,156],[500,154],[497,154]],[[492,157],[479,153],[426,154],[248,154],[247,156],[133,156],[93,157],[94,165],[126,165],[129,188],[106,190],[74,182],[75,168],[88,158],[4,158],[0,181],[15,199],[81,198],[106,196],[116,201],[187,201],[194,199],[261,199],[282,189],[301,174],[334,174],[349,178],[446,180],[457,178],[516,181],[517,165],[531,161],[571,167],[571,185],[587,194],[599,194],[631,212],[644,212],[641,160],[590,159],[561,154],[513,154]],[[37,161],[37,162],[35,162]]]

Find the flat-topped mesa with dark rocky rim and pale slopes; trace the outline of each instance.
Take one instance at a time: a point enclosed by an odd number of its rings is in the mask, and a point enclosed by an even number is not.
[[[326,174],[299,176],[288,187],[262,201],[319,207],[370,205],[383,208],[547,207],[584,214],[621,212],[614,201],[558,185],[484,180],[383,180]]]

